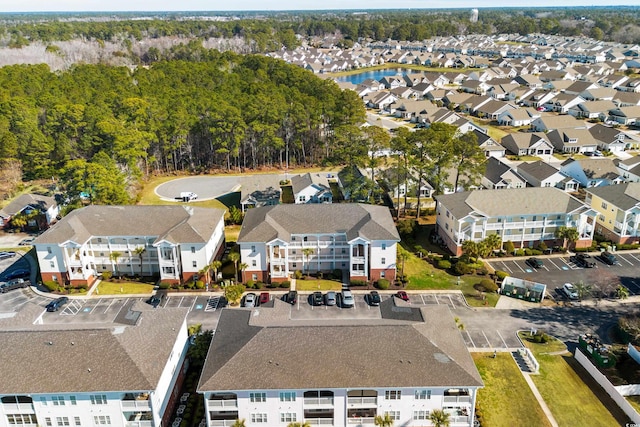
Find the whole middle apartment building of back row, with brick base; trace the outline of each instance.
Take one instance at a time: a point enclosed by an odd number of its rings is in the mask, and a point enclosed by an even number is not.
[[[353,280],[393,281],[399,241],[388,208],[357,203],[250,209],[238,236],[245,280],[263,282],[336,269]]]

